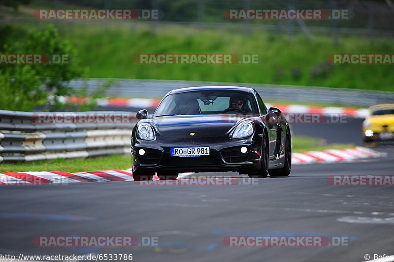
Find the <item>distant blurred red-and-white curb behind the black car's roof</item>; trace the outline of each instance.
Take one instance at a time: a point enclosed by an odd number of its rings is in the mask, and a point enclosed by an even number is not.
[[[90,100],[90,98],[77,97],[61,97],[60,100],[65,103],[83,104]],[[159,103],[159,99],[149,98],[100,98],[96,99],[99,106],[119,106],[119,107],[138,107],[155,109]],[[279,108],[284,114],[318,114],[330,115],[338,114],[349,117],[365,118],[368,115],[366,108],[349,108],[349,107],[335,107],[335,106],[314,106],[314,105],[300,105],[300,104],[271,104],[266,103],[267,107],[275,106]]]

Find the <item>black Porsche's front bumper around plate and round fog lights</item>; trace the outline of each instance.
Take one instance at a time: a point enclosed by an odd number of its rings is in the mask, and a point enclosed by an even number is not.
[[[204,147],[209,146],[209,156],[173,157],[171,147]],[[240,148],[248,150],[242,153]],[[137,140],[131,147],[133,172],[223,172],[257,170],[261,167],[261,138],[184,138],[165,141],[158,138],[155,141]],[[138,152],[144,149],[141,156]]]

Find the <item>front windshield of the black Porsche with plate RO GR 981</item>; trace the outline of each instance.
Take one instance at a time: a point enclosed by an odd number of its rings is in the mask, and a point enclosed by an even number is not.
[[[169,95],[160,103],[154,116],[258,112],[252,94],[210,90]]]

